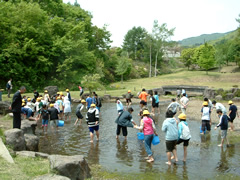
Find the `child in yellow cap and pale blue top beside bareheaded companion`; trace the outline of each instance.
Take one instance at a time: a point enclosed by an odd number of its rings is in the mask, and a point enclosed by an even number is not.
[[[186,160],[187,160],[187,147],[188,147],[189,140],[191,138],[191,134],[190,134],[190,130],[189,130],[189,127],[188,127],[188,123],[186,122],[186,118],[187,118],[186,115],[182,113],[178,116],[178,118],[180,120],[180,123],[178,124],[177,144],[181,144],[183,142],[183,151],[184,151],[183,162],[186,162]]]

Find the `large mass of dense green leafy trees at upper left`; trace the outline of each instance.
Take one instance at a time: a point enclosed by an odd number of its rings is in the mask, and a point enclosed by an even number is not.
[[[95,71],[97,59],[107,60],[111,34],[106,26],[93,26],[92,16],[77,3],[1,1],[0,18],[3,87],[10,77],[15,88],[25,83],[27,90],[49,84],[71,87]]]

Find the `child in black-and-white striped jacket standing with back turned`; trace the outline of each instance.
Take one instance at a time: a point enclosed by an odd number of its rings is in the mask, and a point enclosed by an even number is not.
[[[90,142],[93,142],[94,131],[96,131],[97,141],[99,140],[99,111],[96,109],[95,104],[91,104],[87,114],[86,121],[88,124],[89,132],[90,132]]]

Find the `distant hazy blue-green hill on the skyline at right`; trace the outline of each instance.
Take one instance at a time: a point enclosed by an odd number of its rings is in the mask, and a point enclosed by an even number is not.
[[[231,32],[233,31],[226,32],[226,33],[202,34],[197,37],[190,37],[190,38],[183,39],[179,41],[179,44],[181,44],[182,46],[199,46],[201,44],[204,44],[204,42],[219,39]]]

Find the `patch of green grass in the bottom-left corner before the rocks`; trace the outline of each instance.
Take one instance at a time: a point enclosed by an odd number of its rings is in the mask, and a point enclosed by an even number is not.
[[[50,172],[47,159],[17,156],[13,160],[15,164],[10,164],[0,157],[0,179],[28,180]]]

